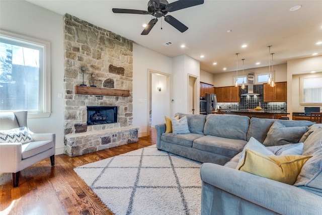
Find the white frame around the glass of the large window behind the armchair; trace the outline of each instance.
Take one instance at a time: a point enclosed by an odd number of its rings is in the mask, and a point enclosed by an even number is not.
[[[50,62],[50,42],[37,38],[28,37],[0,29],[0,39],[18,44],[31,44],[43,47],[39,58],[43,63],[39,64],[39,107],[37,111],[28,111],[28,118],[46,118],[51,114],[51,62]],[[0,112],[11,112],[18,110],[0,110]]]

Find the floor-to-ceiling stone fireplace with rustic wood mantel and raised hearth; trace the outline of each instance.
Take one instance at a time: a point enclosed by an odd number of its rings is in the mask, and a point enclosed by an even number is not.
[[[73,157],[136,142],[132,41],[65,14],[64,48],[64,153]]]

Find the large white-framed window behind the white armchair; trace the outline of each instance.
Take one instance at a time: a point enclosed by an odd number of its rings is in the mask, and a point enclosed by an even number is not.
[[[0,111],[49,117],[50,43],[0,31]]]

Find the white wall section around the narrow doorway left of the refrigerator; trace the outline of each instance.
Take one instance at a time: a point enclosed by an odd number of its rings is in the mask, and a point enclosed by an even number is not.
[[[196,85],[199,86],[200,62],[187,56],[180,55],[173,58],[173,113],[188,113],[188,83],[189,75],[198,77]],[[198,87],[199,89],[199,87]],[[199,91],[197,98],[199,98]]]

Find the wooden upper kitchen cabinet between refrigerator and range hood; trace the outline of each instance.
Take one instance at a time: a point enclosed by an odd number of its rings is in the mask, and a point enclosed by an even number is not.
[[[217,102],[240,102],[240,87],[218,87],[214,93]]]

